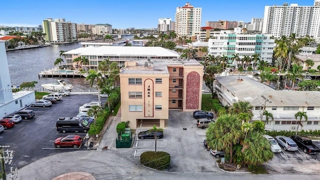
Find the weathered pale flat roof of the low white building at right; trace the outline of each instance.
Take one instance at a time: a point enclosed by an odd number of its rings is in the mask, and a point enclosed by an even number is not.
[[[320,106],[320,91],[275,90],[248,76],[216,76],[215,79],[241,101],[261,105],[264,98],[271,99],[266,106]]]

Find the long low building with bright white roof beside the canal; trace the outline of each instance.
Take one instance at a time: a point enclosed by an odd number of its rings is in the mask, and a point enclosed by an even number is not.
[[[98,62],[110,57],[110,62],[117,62],[119,66],[124,66],[125,61],[163,59],[172,60],[179,57],[179,54],[173,50],[163,47],[140,47],[140,46],[87,46],[79,47],[64,52],[66,65],[68,68],[75,68],[76,63],[73,59],[78,56],[85,56],[89,60],[86,65],[88,69],[98,69]],[[82,64],[82,69],[85,68]]]

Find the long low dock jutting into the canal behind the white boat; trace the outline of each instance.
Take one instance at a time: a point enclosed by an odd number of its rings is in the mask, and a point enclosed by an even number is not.
[[[38,77],[64,77],[64,78],[76,78],[76,77],[86,77],[87,73],[81,73],[78,70],[70,70],[70,69],[59,69],[59,68],[51,68],[44,69],[40,73],[38,73]]]

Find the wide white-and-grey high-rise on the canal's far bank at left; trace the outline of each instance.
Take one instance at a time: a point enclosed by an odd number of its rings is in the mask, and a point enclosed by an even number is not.
[[[45,41],[68,42],[76,40],[76,23],[65,21],[64,18],[47,18],[42,22]]]

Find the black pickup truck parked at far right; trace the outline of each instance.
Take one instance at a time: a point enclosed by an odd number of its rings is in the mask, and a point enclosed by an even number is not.
[[[299,135],[292,135],[291,139],[296,143],[298,147],[303,149],[304,153],[315,154],[320,152],[320,148],[312,143],[312,140]]]

